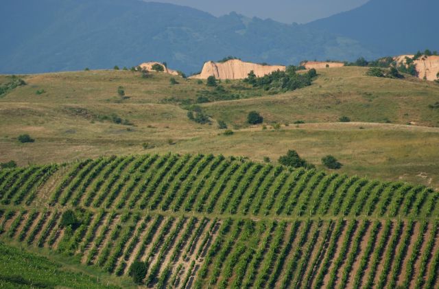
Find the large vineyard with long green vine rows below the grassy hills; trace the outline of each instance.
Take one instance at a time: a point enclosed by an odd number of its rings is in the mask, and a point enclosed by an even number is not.
[[[213,155],[0,170],[0,240],[152,288],[439,288],[439,193]],[[64,226],[67,211],[77,222]]]

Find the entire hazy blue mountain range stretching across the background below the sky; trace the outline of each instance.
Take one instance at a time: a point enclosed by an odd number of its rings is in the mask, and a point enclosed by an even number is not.
[[[305,25],[209,13],[138,0],[5,0],[0,73],[36,73],[167,62],[186,73],[233,55],[252,62],[439,50],[435,0],[371,0]]]

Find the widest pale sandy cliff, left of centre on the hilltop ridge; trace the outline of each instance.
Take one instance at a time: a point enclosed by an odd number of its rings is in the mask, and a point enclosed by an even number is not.
[[[286,67],[281,65],[259,65],[252,62],[244,62],[239,59],[228,60],[226,62],[209,61],[204,63],[200,74],[191,76],[195,79],[206,79],[215,76],[220,80],[238,80],[247,78],[248,73],[253,71],[257,77],[262,77],[273,71],[285,71]]]

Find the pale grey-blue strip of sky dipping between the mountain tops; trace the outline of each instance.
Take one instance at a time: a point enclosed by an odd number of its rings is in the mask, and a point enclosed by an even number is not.
[[[307,23],[351,10],[368,0],[154,0],[197,8],[215,16],[235,11],[283,23]]]

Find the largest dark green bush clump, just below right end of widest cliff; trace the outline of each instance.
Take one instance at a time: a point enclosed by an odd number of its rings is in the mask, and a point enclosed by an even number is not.
[[[313,78],[317,76],[316,69],[309,69],[307,73],[296,73],[297,67],[289,66],[285,71],[274,71],[258,78],[254,71],[248,73],[244,82],[253,87],[261,87],[265,91],[294,91],[305,86],[310,86]]]

